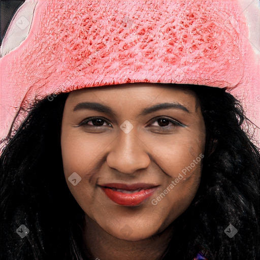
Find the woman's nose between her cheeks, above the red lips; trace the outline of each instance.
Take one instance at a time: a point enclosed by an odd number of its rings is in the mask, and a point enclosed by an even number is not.
[[[135,127],[128,134],[119,131],[118,137],[110,146],[107,164],[110,168],[125,174],[131,174],[149,166],[149,148],[140,140]]]

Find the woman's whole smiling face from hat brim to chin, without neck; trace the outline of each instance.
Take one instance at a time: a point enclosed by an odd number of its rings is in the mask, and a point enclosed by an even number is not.
[[[154,83],[69,94],[61,151],[74,198],[100,227],[138,241],[190,205],[201,177],[205,125],[190,90]]]

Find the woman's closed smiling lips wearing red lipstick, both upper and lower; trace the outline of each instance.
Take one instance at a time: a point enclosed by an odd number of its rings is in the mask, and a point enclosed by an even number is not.
[[[137,206],[149,198],[158,185],[137,183],[108,183],[101,186],[105,194],[113,202],[124,206]]]

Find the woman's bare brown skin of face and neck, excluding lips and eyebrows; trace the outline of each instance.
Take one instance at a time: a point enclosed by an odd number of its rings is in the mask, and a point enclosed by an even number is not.
[[[82,102],[106,105],[114,115],[73,111]],[[166,102],[179,103],[189,112],[171,108],[138,116],[145,108]],[[125,120],[133,125],[127,134],[120,128]],[[87,124],[79,126],[83,121]],[[69,94],[61,125],[63,169],[70,191],[85,212],[85,250],[93,259],[161,259],[173,236],[170,224],[188,208],[199,188],[202,163],[194,164],[178,183],[175,180],[204,153],[205,137],[198,98],[181,86],[130,83]],[[68,180],[74,172],[82,178],[76,186]],[[159,186],[142,204],[127,207],[110,200],[98,186],[119,182]],[[152,200],[173,182],[174,188],[153,205]]]

